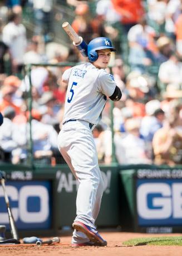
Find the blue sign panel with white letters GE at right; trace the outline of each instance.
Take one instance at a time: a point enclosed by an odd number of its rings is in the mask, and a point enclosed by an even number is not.
[[[137,180],[139,225],[182,224],[182,182],[179,179]]]

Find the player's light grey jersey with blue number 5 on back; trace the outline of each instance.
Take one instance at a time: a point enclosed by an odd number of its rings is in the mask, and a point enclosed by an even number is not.
[[[63,123],[79,119],[96,125],[101,119],[106,96],[110,97],[116,88],[112,75],[85,63],[67,69],[62,80],[68,84]]]

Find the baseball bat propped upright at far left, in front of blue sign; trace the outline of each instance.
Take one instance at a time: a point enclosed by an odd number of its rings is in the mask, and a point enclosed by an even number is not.
[[[5,199],[6,206],[7,206],[8,217],[9,217],[9,225],[10,225],[10,228],[11,228],[11,234],[13,236],[13,239],[19,240],[18,232],[17,232],[17,227],[16,227],[16,224],[15,224],[13,215],[12,215],[11,208],[9,206],[9,199],[8,199],[8,196],[7,196],[7,192],[6,192],[6,188],[5,188],[5,183],[4,183],[4,179],[3,178],[1,179],[1,185],[2,185],[2,188],[3,188],[4,199]]]

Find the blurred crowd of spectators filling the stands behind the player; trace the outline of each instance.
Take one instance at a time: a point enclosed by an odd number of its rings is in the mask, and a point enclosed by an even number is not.
[[[107,69],[121,88],[112,106],[120,164],[182,164],[181,0],[8,0],[0,3],[0,161],[64,163],[57,149],[68,63],[87,61],[53,34],[55,4],[70,8],[71,25],[88,43],[109,37],[116,54]],[[32,8],[33,28],[23,19]],[[60,27],[65,20],[60,20]],[[28,64],[35,65],[28,75]],[[48,64],[66,63],[63,67]],[[31,82],[31,83],[30,83]],[[99,163],[112,161],[111,102],[93,135]],[[30,130],[32,132],[30,132]]]

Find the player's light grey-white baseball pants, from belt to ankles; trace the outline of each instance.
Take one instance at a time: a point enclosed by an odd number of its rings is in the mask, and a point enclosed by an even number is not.
[[[96,146],[89,123],[83,120],[67,122],[58,135],[58,149],[80,182],[76,198],[76,219],[95,228],[104,182],[101,176]],[[85,234],[73,231],[72,243],[86,242]]]

